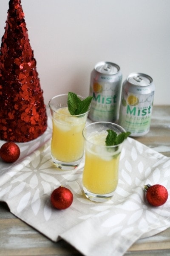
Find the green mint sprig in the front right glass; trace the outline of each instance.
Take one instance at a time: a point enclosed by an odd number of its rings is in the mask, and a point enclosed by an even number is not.
[[[108,131],[108,135],[105,140],[106,146],[118,145],[122,143],[130,135],[129,131],[122,132],[121,134],[118,134],[118,135],[113,130],[107,130],[107,131]]]

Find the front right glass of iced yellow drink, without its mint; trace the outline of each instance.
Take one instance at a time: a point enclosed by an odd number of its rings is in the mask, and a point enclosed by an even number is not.
[[[125,132],[121,126],[111,122],[94,122],[83,130],[85,166],[82,186],[86,197],[96,202],[111,199],[118,185],[123,143],[106,146],[107,130],[113,130],[116,134]]]

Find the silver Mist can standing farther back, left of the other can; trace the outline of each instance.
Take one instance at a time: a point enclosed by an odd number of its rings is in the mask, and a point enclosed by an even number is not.
[[[119,116],[122,73],[112,62],[100,61],[91,72],[90,95],[93,96],[89,118],[116,121]]]

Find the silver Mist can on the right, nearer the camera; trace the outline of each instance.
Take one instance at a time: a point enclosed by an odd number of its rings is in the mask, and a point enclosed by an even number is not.
[[[131,73],[123,82],[119,125],[130,136],[143,136],[150,130],[155,86],[150,76]]]

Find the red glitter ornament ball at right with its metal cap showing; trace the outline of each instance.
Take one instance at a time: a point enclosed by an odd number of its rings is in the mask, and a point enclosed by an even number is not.
[[[153,206],[160,206],[167,201],[168,192],[167,189],[159,184],[151,186],[147,184],[145,186],[147,201]]]

